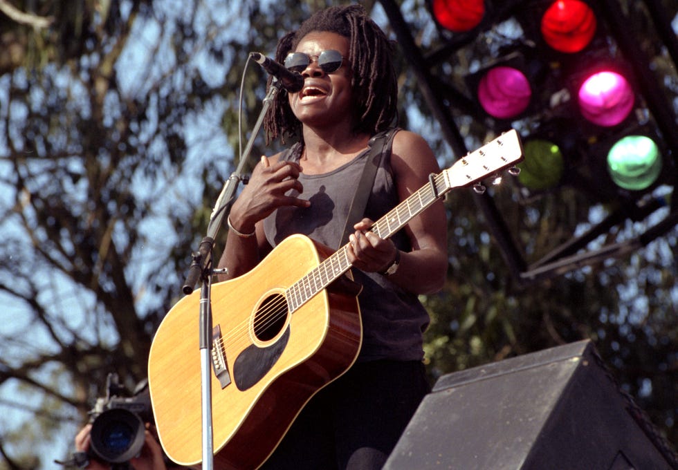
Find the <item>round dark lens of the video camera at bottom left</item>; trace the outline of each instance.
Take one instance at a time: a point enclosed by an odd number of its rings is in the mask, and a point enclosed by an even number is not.
[[[131,411],[122,408],[104,411],[92,423],[92,450],[106,462],[127,462],[141,451],[144,429],[141,418]]]

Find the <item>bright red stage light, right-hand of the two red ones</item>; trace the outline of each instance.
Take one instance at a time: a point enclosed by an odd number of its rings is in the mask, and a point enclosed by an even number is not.
[[[553,2],[542,16],[542,37],[562,53],[578,53],[596,33],[596,15],[580,0]]]

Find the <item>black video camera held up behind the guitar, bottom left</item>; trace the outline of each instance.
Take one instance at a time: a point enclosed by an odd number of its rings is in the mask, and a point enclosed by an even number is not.
[[[118,382],[118,375],[111,373],[106,390],[106,396],[98,398],[89,412],[90,451],[113,469],[127,469],[129,459],[139,455],[144,446],[145,423],[153,420],[148,381],[139,382],[129,396],[127,388]]]

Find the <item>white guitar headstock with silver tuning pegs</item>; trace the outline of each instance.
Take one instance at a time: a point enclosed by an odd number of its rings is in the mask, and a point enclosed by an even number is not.
[[[513,167],[523,158],[520,137],[515,129],[511,129],[457,160],[452,167],[443,170],[443,174],[450,188],[470,186],[483,178]]]

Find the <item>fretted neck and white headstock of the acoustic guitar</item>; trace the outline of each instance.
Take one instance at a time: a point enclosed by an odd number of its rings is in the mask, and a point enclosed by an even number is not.
[[[370,231],[379,238],[389,238],[421,214],[438,198],[455,187],[473,185],[498,171],[512,167],[522,160],[522,146],[515,129],[502,134],[468,156],[461,158],[452,167],[431,175],[427,185],[419,188],[407,199],[377,220]],[[309,274],[286,290],[290,311],[300,308],[315,294],[327,288],[351,267],[347,256],[348,244],[340,247]]]

